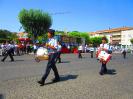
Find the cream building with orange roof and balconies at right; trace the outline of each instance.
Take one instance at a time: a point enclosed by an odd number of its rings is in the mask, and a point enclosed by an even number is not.
[[[114,28],[90,33],[90,37],[96,36],[106,36],[112,45],[131,48],[130,39],[133,38],[133,27]]]

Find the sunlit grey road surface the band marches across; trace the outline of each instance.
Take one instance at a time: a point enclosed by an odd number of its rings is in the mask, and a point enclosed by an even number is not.
[[[51,83],[51,71],[46,85],[37,83],[47,61],[37,63],[33,55],[15,56],[0,62],[0,99],[133,99],[133,55],[113,54],[107,64],[108,74],[99,75],[100,63],[89,53],[78,59],[76,54],[63,54],[57,63],[61,77]],[[2,57],[0,57],[1,59]]]

